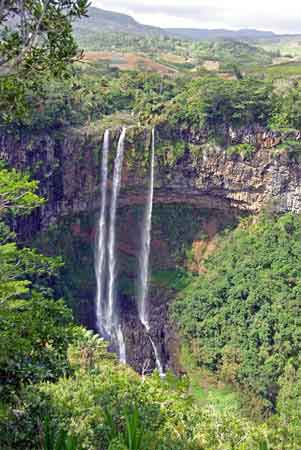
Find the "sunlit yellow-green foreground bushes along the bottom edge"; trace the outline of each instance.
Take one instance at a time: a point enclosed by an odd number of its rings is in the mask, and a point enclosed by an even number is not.
[[[87,364],[91,349],[93,364]],[[189,395],[188,380],[177,380],[172,374],[164,380],[156,374],[140,378],[106,353],[102,340],[82,329],[69,356],[73,375],[27,387],[19,396],[18,414],[0,416],[2,448],[37,449],[44,442],[43,450],[53,450],[62,442],[59,448],[65,450],[66,441],[72,450],[299,448],[299,437],[287,435],[279,418],[269,428],[230,409],[200,408]],[[286,435],[289,447],[283,441]]]

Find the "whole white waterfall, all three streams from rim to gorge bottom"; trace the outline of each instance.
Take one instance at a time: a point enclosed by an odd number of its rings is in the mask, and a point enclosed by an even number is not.
[[[110,152],[110,132],[104,135],[101,163],[101,208],[98,221],[97,243],[95,252],[96,292],[96,327],[99,334],[113,342],[119,351],[120,362],[126,363],[126,342],[122,329],[120,311],[116,302],[117,254],[116,254],[116,215],[118,197],[121,188],[122,167],[124,159],[124,143],[126,128],[119,137],[110,197],[108,195],[108,161]],[[154,197],[155,172],[155,130],[152,130],[150,182],[142,223],[141,246],[139,254],[137,310],[139,319],[152,344],[156,366],[160,376],[164,375],[157,347],[150,336],[150,310],[148,302],[149,290],[149,257],[151,247],[152,210]],[[108,214],[109,211],[109,214]]]

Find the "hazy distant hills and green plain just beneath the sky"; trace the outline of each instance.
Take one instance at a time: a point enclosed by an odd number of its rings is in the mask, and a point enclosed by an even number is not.
[[[168,62],[172,69],[189,69],[206,61],[219,62],[219,67],[240,64],[243,66],[269,65],[276,53],[299,52],[299,45],[292,49],[288,37],[269,31],[242,29],[162,29],[143,25],[133,17],[91,7],[88,16],[77,20],[75,37],[80,48],[86,51],[143,53],[157,62],[162,54],[173,54],[181,61]],[[285,40],[285,47],[282,45]],[[288,47],[288,48],[286,48]],[[187,56],[188,55],[188,56]],[[169,55],[170,58],[170,55]]]

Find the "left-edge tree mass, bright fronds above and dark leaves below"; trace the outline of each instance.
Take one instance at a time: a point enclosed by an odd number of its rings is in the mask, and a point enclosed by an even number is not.
[[[19,248],[4,222],[43,203],[35,194],[37,183],[3,168],[0,179],[0,389],[10,398],[24,383],[65,372],[72,327],[70,312],[52,298],[61,260]]]

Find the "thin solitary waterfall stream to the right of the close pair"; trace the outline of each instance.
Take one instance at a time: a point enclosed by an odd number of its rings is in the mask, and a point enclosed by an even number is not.
[[[155,172],[155,129],[152,130],[150,183],[143,219],[142,242],[139,256],[138,310],[140,321],[145,326],[147,331],[149,331],[150,328],[147,295],[149,283],[149,255],[151,244],[152,212],[153,212],[153,197],[154,197],[154,172]]]

